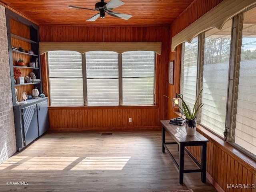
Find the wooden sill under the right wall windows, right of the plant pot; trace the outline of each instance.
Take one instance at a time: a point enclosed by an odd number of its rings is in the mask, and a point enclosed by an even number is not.
[[[175,113],[178,116],[181,116],[178,112],[175,112]],[[240,162],[243,166],[250,168],[250,171],[256,174],[255,160],[253,160],[252,158],[250,158],[249,156],[247,156],[246,154],[244,154],[243,152],[241,152],[240,150],[238,150],[228,142],[224,141],[220,137],[216,136],[206,128],[200,126],[199,124],[196,127],[196,131],[202,134],[203,136],[205,136],[206,138],[208,138],[210,142],[212,142],[213,144],[221,148],[221,150],[226,152],[228,155],[232,156],[235,160]]]

